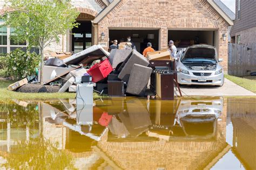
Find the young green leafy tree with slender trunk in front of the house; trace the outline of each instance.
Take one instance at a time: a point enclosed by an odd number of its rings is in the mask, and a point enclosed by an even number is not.
[[[43,75],[44,48],[59,42],[59,35],[77,27],[79,12],[68,2],[59,0],[6,0],[12,9],[5,15],[5,25],[14,28],[15,41],[27,42],[28,48],[38,47],[41,53]],[[43,81],[41,81],[41,84]]]

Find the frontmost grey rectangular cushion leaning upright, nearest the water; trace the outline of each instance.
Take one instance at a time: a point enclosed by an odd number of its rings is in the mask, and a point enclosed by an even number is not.
[[[144,96],[152,70],[153,69],[150,67],[134,64],[127,84],[126,93]]]

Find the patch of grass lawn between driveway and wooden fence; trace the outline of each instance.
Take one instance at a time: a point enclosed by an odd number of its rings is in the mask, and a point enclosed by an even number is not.
[[[256,76],[237,77],[225,74],[225,78],[239,86],[256,93]]]

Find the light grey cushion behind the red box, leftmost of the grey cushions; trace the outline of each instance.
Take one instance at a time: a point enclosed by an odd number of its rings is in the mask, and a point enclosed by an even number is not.
[[[113,50],[112,50],[113,51]],[[110,52],[109,61],[113,68],[117,68],[117,66],[124,62],[126,58],[129,58],[132,55],[132,49],[115,49],[112,53]]]

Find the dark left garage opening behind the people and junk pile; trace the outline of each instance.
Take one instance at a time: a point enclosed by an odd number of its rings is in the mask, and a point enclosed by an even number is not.
[[[109,45],[113,40],[125,42],[127,36],[131,36],[131,41],[136,46],[138,52],[143,53],[147,47],[147,42],[152,43],[152,48],[158,50],[159,47],[159,30],[109,30]]]

